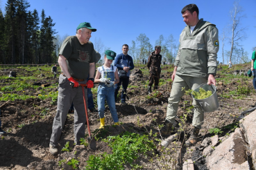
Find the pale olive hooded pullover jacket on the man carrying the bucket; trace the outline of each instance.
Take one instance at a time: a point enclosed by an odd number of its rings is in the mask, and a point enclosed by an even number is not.
[[[216,26],[200,19],[190,35],[186,26],[180,34],[180,46],[174,66],[177,75],[205,77],[216,74],[219,35]]]

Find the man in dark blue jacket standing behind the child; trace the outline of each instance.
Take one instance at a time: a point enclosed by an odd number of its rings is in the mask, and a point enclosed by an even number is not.
[[[114,100],[117,102],[117,93],[122,84],[123,90],[121,92],[121,104],[126,105],[126,89],[129,84],[130,70],[133,70],[133,58],[128,55],[129,46],[123,44],[122,51],[123,53],[117,55],[114,59],[114,66],[117,66],[119,72],[119,83],[114,86]],[[123,73],[122,73],[123,72]]]

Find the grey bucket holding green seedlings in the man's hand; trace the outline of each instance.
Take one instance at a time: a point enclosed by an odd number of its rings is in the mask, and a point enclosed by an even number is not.
[[[218,97],[216,93],[216,86],[212,84],[211,85],[201,84],[194,91],[198,92],[199,88],[203,88],[205,91],[212,91],[212,95],[202,100],[195,99],[194,95],[192,95],[193,99],[196,100],[196,102],[203,109],[203,111],[205,112],[216,111],[219,108],[219,102],[218,102]]]

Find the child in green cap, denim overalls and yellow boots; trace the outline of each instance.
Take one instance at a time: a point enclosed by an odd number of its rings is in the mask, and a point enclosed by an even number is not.
[[[97,104],[101,122],[99,129],[105,126],[105,100],[107,100],[114,124],[119,125],[117,109],[114,101],[114,84],[119,82],[119,75],[117,72],[117,67],[111,65],[116,55],[117,54],[114,53],[114,51],[106,50],[104,65],[97,68],[97,73],[95,76],[95,82],[100,83],[97,94]]]

